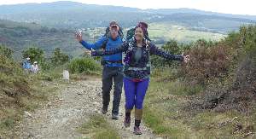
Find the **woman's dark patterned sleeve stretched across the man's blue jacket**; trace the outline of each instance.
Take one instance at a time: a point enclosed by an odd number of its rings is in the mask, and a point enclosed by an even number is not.
[[[114,55],[118,53],[122,53],[128,50],[129,43],[124,42],[121,46],[114,49],[105,49],[105,50],[96,50],[92,53],[93,56],[102,56],[102,55]]]

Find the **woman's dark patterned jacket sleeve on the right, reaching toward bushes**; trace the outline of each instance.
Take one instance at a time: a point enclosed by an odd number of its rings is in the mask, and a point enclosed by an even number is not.
[[[150,54],[151,55],[159,55],[167,60],[174,60],[174,61],[183,61],[182,55],[172,55],[170,53],[165,52],[162,49],[157,48],[154,43],[149,44],[150,47]]]

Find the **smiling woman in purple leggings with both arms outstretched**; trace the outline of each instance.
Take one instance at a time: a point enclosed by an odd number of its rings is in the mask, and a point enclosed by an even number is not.
[[[154,43],[149,42],[145,34],[148,25],[140,22],[136,26],[134,37],[125,42],[121,47],[116,49],[108,49],[104,51],[93,51],[93,56],[113,55],[125,52],[125,127],[131,125],[131,110],[135,106],[135,126],[134,134],[141,135],[140,130],[141,119],[143,116],[143,100],[148,90],[150,61],[149,55],[160,55],[168,60],[189,61],[189,55],[171,55],[158,49]]]

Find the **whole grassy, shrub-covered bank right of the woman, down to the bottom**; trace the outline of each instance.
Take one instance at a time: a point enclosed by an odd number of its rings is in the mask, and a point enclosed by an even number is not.
[[[255,138],[256,26],[241,26],[218,43],[166,43],[188,64],[156,65],[146,96],[146,124],[166,138]],[[154,59],[153,59],[154,60]],[[162,66],[160,65],[162,63]],[[171,67],[168,67],[170,64]]]

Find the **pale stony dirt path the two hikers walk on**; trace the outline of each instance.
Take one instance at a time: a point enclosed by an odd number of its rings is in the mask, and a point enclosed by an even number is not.
[[[51,84],[57,85],[57,84]],[[60,91],[59,96],[55,96],[35,113],[28,113],[20,125],[18,135],[20,138],[83,138],[77,128],[88,120],[93,113],[101,113],[102,96],[97,96],[101,91],[102,82],[100,79],[90,79],[85,81],[67,84]],[[120,103],[119,120],[110,119],[111,113],[107,113],[108,122],[113,125],[122,138],[157,138],[145,126],[142,126],[143,135],[135,136],[132,134],[132,127],[125,129],[124,101],[123,93]],[[112,104],[110,104],[112,106]],[[111,110],[112,107],[109,107]]]

